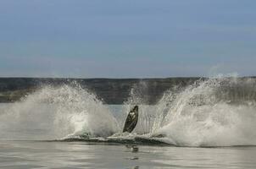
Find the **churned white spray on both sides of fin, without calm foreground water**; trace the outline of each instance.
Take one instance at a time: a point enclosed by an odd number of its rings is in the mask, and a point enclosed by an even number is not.
[[[45,86],[1,106],[1,139],[142,137],[177,146],[256,145],[255,79],[214,78],[170,86],[156,105],[143,105],[147,84],[134,86],[121,106],[104,105],[80,85]],[[125,117],[139,106],[132,134]]]

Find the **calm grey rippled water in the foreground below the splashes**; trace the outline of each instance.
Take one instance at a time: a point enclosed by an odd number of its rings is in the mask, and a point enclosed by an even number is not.
[[[1,141],[0,168],[256,168],[256,147],[186,148]]]

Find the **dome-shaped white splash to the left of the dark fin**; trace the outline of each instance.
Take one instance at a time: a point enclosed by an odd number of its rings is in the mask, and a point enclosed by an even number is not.
[[[10,105],[0,121],[5,134],[6,130],[11,131],[8,139],[106,137],[119,130],[108,106],[79,85],[45,86]],[[33,134],[27,134],[30,130]]]

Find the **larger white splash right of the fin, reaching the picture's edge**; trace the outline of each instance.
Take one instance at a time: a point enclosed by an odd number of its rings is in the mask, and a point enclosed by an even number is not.
[[[161,123],[152,136],[179,146],[255,145],[255,84],[255,79],[208,79],[175,97],[170,93],[171,101],[158,105],[169,105],[169,111],[159,112]]]

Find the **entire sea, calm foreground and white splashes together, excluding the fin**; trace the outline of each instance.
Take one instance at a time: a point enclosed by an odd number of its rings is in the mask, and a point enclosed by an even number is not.
[[[147,84],[146,84],[147,85]],[[80,85],[45,86],[0,104],[1,168],[256,168],[256,81],[215,78],[123,105]],[[139,106],[131,134],[125,117]]]

